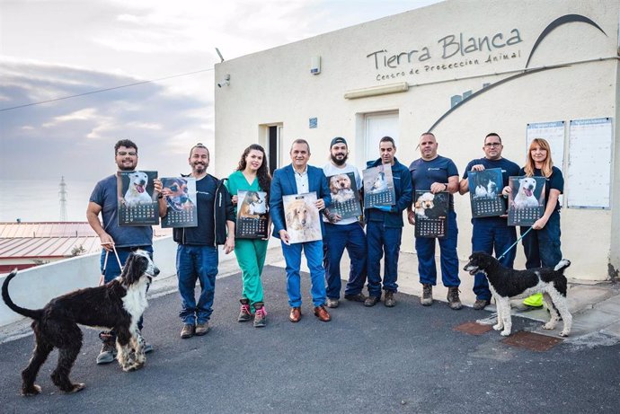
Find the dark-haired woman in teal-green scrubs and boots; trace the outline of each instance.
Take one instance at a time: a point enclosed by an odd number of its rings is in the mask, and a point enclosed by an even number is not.
[[[237,191],[265,191],[267,199],[263,202],[269,205],[269,191],[271,186],[271,176],[267,167],[265,150],[261,145],[252,144],[245,148],[241,155],[237,170],[230,174],[226,187],[233,195],[233,204],[237,206],[239,198]],[[241,297],[241,311],[237,321],[247,322],[254,319],[253,325],[261,328],[267,323],[267,312],[263,302],[261,274],[265,264],[267,254],[266,239],[235,239],[235,256],[241,268],[244,290]]]

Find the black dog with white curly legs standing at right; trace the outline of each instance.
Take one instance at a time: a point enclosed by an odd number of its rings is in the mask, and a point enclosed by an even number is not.
[[[501,330],[502,336],[509,336],[512,329],[510,299],[542,293],[545,305],[551,313],[551,319],[543,325],[543,329],[553,330],[559,316],[562,316],[564,329],[560,336],[566,337],[571,333],[572,325],[572,315],[566,302],[567,281],[564,276],[564,269],[569,266],[571,262],[562,259],[554,269],[513,270],[502,266],[490,254],[476,251],[469,257],[469,263],[464,270],[470,275],[482,272],[489,279],[489,288],[497,304],[497,324],[493,329]]]

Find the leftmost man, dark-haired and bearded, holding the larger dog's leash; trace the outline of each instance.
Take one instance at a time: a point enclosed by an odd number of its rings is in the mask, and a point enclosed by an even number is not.
[[[128,139],[121,139],[114,145],[115,161],[119,171],[134,171],[137,166],[137,145]],[[162,181],[155,179],[155,191],[161,191]],[[119,198],[117,193],[117,174],[112,174],[97,182],[88,201],[86,219],[88,224],[99,236],[102,243],[102,283],[108,283],[120,276],[119,263],[113,250],[119,255],[120,264],[124,265],[131,251],[142,249],[153,255],[153,229],[145,226],[119,226]],[[165,210],[165,207],[164,207]],[[102,222],[99,221],[99,214]],[[160,215],[162,210],[160,208]],[[106,260],[107,259],[107,260]],[[138,322],[138,329],[142,330],[142,320]],[[113,330],[101,332],[102,350],[97,356],[97,364],[109,364],[116,357],[116,335]],[[153,351],[149,343],[145,345],[145,352]]]

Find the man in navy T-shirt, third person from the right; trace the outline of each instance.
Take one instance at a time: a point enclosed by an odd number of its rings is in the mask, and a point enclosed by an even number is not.
[[[458,297],[458,256],[456,255],[456,212],[454,197],[458,191],[458,170],[455,163],[449,158],[437,154],[437,139],[430,132],[420,137],[421,158],[410,166],[413,190],[425,190],[433,194],[441,191],[450,193],[450,206],[447,212],[447,235],[438,239],[441,251],[441,280],[447,287],[447,303],[454,310],[461,309],[461,300]],[[415,194],[415,192],[414,192]],[[415,225],[412,205],[407,208],[409,223]],[[437,268],[435,266],[435,239],[416,237],[415,251],[418,253],[418,273],[422,284],[421,304],[430,306],[433,303],[432,286],[437,284]]]

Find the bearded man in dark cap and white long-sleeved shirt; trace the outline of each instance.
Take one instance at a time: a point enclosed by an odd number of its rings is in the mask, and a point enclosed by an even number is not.
[[[332,139],[330,145],[331,162],[323,167],[325,176],[353,172],[358,189],[362,189],[362,180],[358,169],[347,163],[349,148],[342,137]],[[329,180],[329,179],[328,179]],[[344,289],[344,298],[355,302],[364,302],[366,296],[361,291],[366,282],[366,234],[356,217],[341,219],[341,216],[325,209],[323,216],[325,233],[323,233],[323,267],[327,282],[327,307],[337,308],[341,296],[341,258],[344,249],[349,252],[351,262],[349,281]]]

